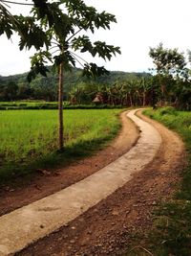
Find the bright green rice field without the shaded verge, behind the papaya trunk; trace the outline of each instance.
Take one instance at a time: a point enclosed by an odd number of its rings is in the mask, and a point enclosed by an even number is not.
[[[117,134],[119,109],[64,110],[67,148],[83,147]],[[57,150],[57,110],[0,111],[0,168],[6,163],[28,163]]]

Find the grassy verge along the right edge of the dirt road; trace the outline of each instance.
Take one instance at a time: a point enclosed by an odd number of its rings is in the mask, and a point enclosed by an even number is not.
[[[191,255],[191,112],[176,111],[172,107],[146,110],[145,114],[166,127],[177,131],[183,139],[188,166],[182,171],[182,180],[173,199],[160,205],[154,212],[152,231],[138,238],[145,241],[143,250],[133,255],[190,256]],[[137,240],[137,239],[135,239]],[[136,242],[138,244],[138,241]]]

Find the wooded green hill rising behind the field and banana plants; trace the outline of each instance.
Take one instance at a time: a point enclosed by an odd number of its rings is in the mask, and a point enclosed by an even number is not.
[[[47,78],[37,76],[31,83],[27,81],[27,74],[23,73],[13,76],[0,76],[0,101],[16,99],[46,99],[54,101],[57,98],[57,81],[58,76],[55,70],[50,68]],[[90,80],[81,76],[82,70],[74,68],[72,72],[64,73],[64,93],[67,97],[68,92],[80,82]],[[151,76],[149,73],[128,73],[122,71],[111,71],[109,75],[101,76],[96,79],[96,83],[112,85],[116,81],[136,80],[142,77]],[[9,86],[8,86],[9,85]],[[16,93],[15,97],[12,95]]]

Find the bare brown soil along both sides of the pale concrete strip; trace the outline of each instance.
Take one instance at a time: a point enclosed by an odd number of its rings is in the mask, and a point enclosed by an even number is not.
[[[162,137],[153,162],[116,193],[16,255],[121,255],[130,246],[132,234],[141,234],[151,226],[153,209],[161,201],[171,198],[177,189],[185,164],[185,152],[176,133],[140,113],[138,115],[157,128]],[[2,192],[1,214],[67,187],[128,151],[138,139],[138,128],[126,119],[124,113],[121,118],[123,128],[120,135],[104,151],[66,170],[59,170],[58,175],[39,176],[29,188]]]

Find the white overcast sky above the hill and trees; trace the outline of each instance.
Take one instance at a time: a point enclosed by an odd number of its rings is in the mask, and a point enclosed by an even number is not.
[[[16,0],[15,0],[16,1]],[[20,2],[24,0],[20,0]],[[29,3],[30,1],[28,1]],[[85,0],[98,11],[111,12],[117,24],[110,31],[96,31],[94,40],[119,46],[121,55],[110,62],[96,60],[108,70],[148,71],[153,67],[149,47],[162,42],[164,47],[191,50],[191,0]],[[27,12],[11,5],[11,12]],[[19,74],[30,69],[32,52],[18,50],[18,41],[0,36],[0,75]],[[88,61],[94,61],[85,57]]]

